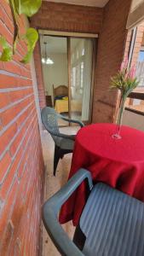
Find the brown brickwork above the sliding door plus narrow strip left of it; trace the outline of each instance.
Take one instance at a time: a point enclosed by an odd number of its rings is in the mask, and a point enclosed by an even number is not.
[[[103,9],[65,3],[44,2],[37,15],[31,20],[31,26],[52,31],[94,32],[101,31]],[[39,45],[35,49],[34,59],[37,69],[37,86],[40,108],[45,106],[43,93],[43,73]]]

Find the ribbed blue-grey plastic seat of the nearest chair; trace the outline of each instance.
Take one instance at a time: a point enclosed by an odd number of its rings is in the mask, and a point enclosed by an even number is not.
[[[143,256],[144,204],[98,183],[80,218],[86,256]]]

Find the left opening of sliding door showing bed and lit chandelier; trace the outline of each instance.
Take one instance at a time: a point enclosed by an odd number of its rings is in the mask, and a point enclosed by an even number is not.
[[[47,106],[68,117],[67,39],[43,36],[41,53],[45,96],[51,98]],[[59,125],[67,125],[67,122],[60,121]]]

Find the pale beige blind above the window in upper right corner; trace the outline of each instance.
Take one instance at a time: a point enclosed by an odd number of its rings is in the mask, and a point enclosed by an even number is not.
[[[133,0],[127,21],[127,29],[137,26],[142,20],[144,20],[144,0]]]

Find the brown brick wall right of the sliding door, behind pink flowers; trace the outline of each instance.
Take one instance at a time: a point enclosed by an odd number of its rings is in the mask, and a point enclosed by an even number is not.
[[[126,21],[131,0],[110,0],[104,8],[98,44],[93,122],[112,122],[117,93],[109,91],[110,79],[118,72],[127,37]]]

